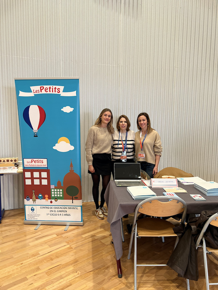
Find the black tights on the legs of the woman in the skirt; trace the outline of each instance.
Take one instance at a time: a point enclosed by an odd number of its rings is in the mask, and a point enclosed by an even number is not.
[[[99,209],[99,183],[100,183],[100,175],[97,174],[91,174],[92,175],[92,196],[95,202],[96,209]],[[104,206],[105,200],[104,200],[104,193],[106,191],[107,185],[111,179],[111,175],[102,175],[102,191],[101,191],[101,203],[100,207]]]

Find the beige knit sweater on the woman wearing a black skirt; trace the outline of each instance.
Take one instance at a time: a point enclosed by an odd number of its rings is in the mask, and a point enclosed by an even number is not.
[[[92,165],[92,155],[107,153],[111,154],[112,134],[107,128],[92,126],[88,130],[86,140],[86,161],[88,165]]]

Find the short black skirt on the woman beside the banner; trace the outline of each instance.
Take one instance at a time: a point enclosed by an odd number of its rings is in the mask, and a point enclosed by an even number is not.
[[[111,163],[111,154],[102,153],[102,154],[93,154],[92,166],[95,169],[95,172],[92,174],[97,175],[111,175],[112,163]],[[88,173],[91,172],[88,170]]]

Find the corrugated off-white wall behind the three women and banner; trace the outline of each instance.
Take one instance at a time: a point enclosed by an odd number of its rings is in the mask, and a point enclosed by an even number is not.
[[[103,108],[147,112],[162,139],[159,170],[218,182],[216,0],[1,0],[0,156],[21,145],[15,77],[79,77],[83,201],[92,200],[85,141]],[[116,122],[114,122],[115,125]],[[115,126],[116,127],[116,126]],[[4,176],[5,209],[23,206]]]

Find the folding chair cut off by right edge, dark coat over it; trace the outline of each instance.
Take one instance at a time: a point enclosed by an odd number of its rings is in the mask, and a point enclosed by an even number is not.
[[[201,230],[200,236],[197,239],[197,242],[195,244],[196,249],[198,247],[203,248],[203,256],[204,256],[204,270],[205,270],[205,278],[206,278],[206,290],[210,289],[210,285],[218,285],[218,283],[209,283],[209,274],[208,274],[208,266],[207,266],[207,255],[211,255],[211,252],[216,252],[218,251],[217,249],[209,248],[206,246],[205,238],[204,238],[204,233],[206,232],[206,229],[208,228],[209,224],[212,226],[218,227],[218,212],[216,214],[213,214],[205,223],[204,227]],[[190,290],[189,287],[189,280],[187,280],[187,289]],[[215,289],[215,288],[214,288]]]

